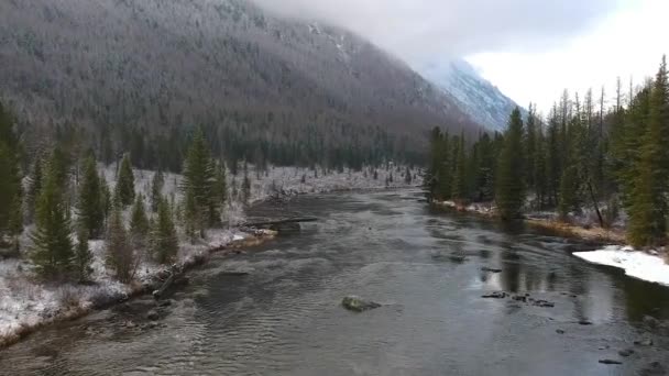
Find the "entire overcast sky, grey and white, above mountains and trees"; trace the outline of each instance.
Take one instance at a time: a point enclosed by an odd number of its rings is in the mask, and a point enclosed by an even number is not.
[[[256,0],[361,34],[417,70],[464,57],[523,106],[641,81],[669,49],[669,0]],[[625,84],[626,85],[626,84]]]

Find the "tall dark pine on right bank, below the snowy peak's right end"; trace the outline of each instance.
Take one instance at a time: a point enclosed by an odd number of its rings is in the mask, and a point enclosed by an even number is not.
[[[516,108],[511,114],[508,130],[504,135],[496,176],[495,201],[504,220],[520,217],[525,202],[524,159],[523,119],[520,110]]]

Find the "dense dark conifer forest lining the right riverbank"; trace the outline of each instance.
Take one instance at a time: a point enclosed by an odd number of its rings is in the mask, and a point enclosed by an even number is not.
[[[564,91],[548,117],[516,109],[507,130],[478,140],[435,129],[426,191],[431,200],[494,201],[504,220],[531,210],[555,210],[563,221],[592,208],[601,226],[621,211],[635,246],[663,244],[669,220],[669,84],[666,57],[657,75],[630,85],[624,103],[605,92],[583,98]]]

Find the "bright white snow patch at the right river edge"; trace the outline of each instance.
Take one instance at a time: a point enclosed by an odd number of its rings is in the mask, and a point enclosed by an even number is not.
[[[573,255],[589,263],[624,269],[626,275],[634,278],[669,286],[669,265],[665,259],[630,246],[611,245],[593,252],[575,252]]]

